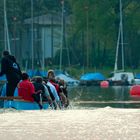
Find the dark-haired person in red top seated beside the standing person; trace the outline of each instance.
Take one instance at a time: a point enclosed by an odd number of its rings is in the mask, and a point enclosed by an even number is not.
[[[26,101],[34,102],[34,93],[35,88],[33,83],[30,82],[29,75],[22,73],[22,81],[18,84],[18,95]]]

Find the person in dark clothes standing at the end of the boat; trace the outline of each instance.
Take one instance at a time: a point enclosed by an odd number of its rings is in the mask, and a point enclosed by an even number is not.
[[[1,60],[1,72],[0,76],[6,75],[6,95],[14,96],[15,88],[21,80],[21,70],[19,64],[16,62],[14,56],[10,55],[8,51],[3,51],[3,57]]]

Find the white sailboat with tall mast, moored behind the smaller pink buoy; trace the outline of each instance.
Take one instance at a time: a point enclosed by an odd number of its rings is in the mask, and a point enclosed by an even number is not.
[[[111,77],[108,78],[110,85],[133,85],[135,84],[135,76],[133,72],[126,72],[124,70],[124,42],[123,42],[123,16],[122,16],[122,1],[120,0],[120,24],[118,31],[118,40],[116,47],[116,57],[114,71]],[[121,57],[119,57],[119,50],[121,50]],[[118,59],[121,58],[121,66],[118,68]]]

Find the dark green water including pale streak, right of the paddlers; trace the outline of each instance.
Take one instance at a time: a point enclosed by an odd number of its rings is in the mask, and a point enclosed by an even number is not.
[[[117,107],[139,108],[140,102],[133,102],[129,94],[129,86],[98,86],[76,87],[69,89],[69,97],[76,107]],[[121,102],[120,102],[121,101]]]

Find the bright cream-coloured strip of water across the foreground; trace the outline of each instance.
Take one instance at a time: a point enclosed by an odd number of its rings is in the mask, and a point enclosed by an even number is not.
[[[139,109],[21,111],[0,114],[2,140],[137,140]]]

